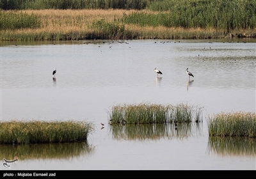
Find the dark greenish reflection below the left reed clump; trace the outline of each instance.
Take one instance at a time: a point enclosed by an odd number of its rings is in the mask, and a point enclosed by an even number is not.
[[[0,145],[0,156],[5,159],[19,157],[19,160],[27,159],[70,159],[80,155],[90,155],[95,150],[88,143],[53,143],[31,145]]]

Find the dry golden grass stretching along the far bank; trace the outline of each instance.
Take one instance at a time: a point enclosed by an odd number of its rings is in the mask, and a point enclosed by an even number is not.
[[[107,23],[118,22],[125,15],[134,12],[157,13],[150,10],[20,10],[13,12],[32,13],[40,20],[38,29],[2,30],[1,40],[85,40],[100,38],[92,28],[95,20],[104,19]],[[119,22],[121,23],[121,22]],[[233,34],[252,35],[255,29],[223,33],[223,29],[202,29],[164,26],[141,27],[124,24],[125,30],[121,38],[134,39],[186,39],[186,38],[230,38]],[[105,29],[103,29],[104,31]],[[101,35],[102,36],[102,35]],[[111,35],[108,35],[111,36]],[[108,38],[104,36],[104,38]],[[115,36],[118,38],[119,36]]]

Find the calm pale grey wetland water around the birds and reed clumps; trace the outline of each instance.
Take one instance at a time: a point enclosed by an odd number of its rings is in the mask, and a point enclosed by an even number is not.
[[[255,112],[255,42],[1,42],[1,121],[86,120],[95,130],[88,144],[0,145],[0,169],[255,170],[255,139],[207,131],[214,113]],[[113,105],[141,102],[198,105],[203,122],[177,130],[108,124]],[[14,157],[6,169],[3,158]]]

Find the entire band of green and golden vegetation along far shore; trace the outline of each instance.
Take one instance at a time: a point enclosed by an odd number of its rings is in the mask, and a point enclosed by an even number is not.
[[[0,8],[1,40],[256,37],[256,0],[0,0]]]

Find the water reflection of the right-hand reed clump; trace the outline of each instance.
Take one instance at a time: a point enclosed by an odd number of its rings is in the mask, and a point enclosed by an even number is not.
[[[252,137],[209,137],[209,153],[221,156],[255,156],[256,139]]]

